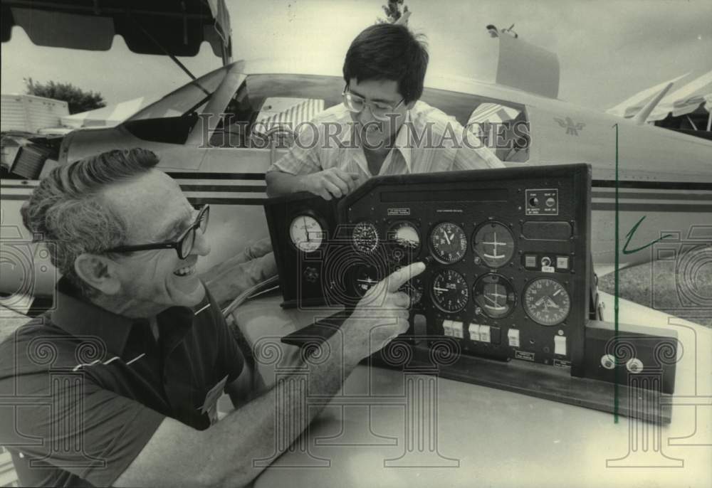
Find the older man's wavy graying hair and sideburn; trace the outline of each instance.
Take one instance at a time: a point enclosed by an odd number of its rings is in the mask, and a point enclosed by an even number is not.
[[[103,253],[124,245],[126,223],[105,205],[100,193],[107,186],[134,179],[158,164],[147,149],[115,150],[53,169],[23,204],[21,213],[33,240],[48,246],[52,264],[85,297],[97,290],[74,269],[82,253]]]

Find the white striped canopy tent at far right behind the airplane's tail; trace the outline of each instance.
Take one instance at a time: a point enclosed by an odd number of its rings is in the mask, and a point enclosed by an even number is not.
[[[712,70],[691,81],[686,80],[685,83],[680,83],[679,80],[687,77],[689,77],[689,73],[643,90],[610,108],[607,112],[619,117],[634,117],[668,83],[675,83],[674,86],[679,85],[679,87],[660,100],[646,118],[646,122],[663,120],[668,115],[673,117],[688,115],[700,107],[703,107],[707,112],[712,112]]]

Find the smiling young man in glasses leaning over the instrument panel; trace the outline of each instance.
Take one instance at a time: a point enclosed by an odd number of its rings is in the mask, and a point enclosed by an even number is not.
[[[344,102],[303,127],[267,170],[271,196],[310,191],[330,200],[371,176],[503,167],[489,149],[419,102],[428,66],[423,43],[404,25],[366,28],[344,61]]]

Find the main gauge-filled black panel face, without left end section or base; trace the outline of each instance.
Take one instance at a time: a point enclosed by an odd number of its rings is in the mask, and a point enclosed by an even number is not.
[[[429,336],[479,356],[570,366],[588,319],[589,189],[586,165],[372,179],[339,203],[345,250],[330,267],[344,281],[328,288],[360,297],[429,258],[404,289]]]

